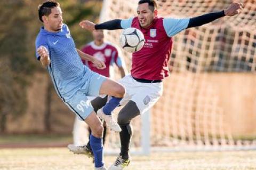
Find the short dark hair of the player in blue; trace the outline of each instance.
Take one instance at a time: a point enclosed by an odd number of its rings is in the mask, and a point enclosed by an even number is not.
[[[60,6],[58,2],[55,1],[47,1],[38,6],[38,17],[39,20],[43,22],[42,17],[44,15],[48,16],[52,13],[52,9],[54,7]]]

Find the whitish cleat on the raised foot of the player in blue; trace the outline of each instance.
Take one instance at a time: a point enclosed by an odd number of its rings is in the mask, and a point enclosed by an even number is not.
[[[109,127],[111,131],[115,131],[115,132],[121,132],[122,131],[121,127],[117,124],[117,122],[115,121],[115,119],[112,115],[104,114],[102,109],[99,109],[97,111],[97,115],[101,119],[105,120],[107,127]]]

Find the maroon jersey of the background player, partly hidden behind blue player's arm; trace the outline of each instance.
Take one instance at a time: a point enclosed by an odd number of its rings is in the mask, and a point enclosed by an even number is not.
[[[82,51],[86,54],[92,55],[95,58],[97,58],[100,61],[105,62],[106,68],[105,69],[97,69],[97,67],[94,66],[94,64],[90,61],[82,60],[84,64],[86,64],[92,71],[98,72],[100,75],[109,77],[109,67],[110,65],[115,62],[117,64],[118,62],[118,51],[116,47],[109,43],[103,43],[100,46],[97,46],[94,44],[94,42],[91,42],[87,44],[85,47],[82,48]],[[118,66],[118,64],[117,64]]]

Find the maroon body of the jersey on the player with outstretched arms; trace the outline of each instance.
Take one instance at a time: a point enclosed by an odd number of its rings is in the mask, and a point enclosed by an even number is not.
[[[145,37],[142,49],[132,54],[132,76],[149,80],[161,80],[169,76],[167,62],[173,41],[166,34],[163,18],[155,18],[148,28],[141,28],[138,17],[135,17],[132,27],[141,30]]]

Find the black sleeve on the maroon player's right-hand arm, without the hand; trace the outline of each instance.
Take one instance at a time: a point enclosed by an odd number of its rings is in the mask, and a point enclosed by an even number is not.
[[[187,28],[202,26],[205,23],[212,22],[224,16],[225,16],[224,11],[220,11],[220,12],[207,13],[198,17],[190,18]]]

